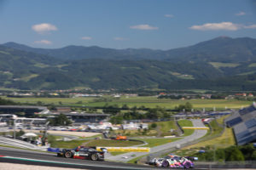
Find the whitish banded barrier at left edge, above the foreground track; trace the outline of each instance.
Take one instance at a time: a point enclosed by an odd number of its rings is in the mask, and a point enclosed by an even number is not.
[[[15,146],[15,147],[24,148],[24,149],[32,149],[32,150],[47,150],[47,148],[49,147],[49,145],[37,146],[35,144],[30,144],[25,141],[21,141],[18,139],[9,139],[3,136],[0,136],[0,144]]]

